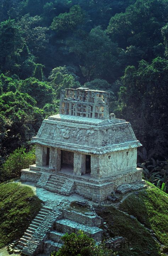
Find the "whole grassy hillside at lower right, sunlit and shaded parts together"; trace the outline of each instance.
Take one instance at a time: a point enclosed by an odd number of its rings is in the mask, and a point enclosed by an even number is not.
[[[129,246],[117,250],[120,256],[164,255],[161,254],[160,245],[151,233],[141,225],[142,223],[153,229],[158,240],[167,245],[168,197],[161,190],[152,186],[146,190],[136,191],[130,194],[118,208],[105,205],[97,207],[96,211],[107,223],[106,231],[111,237],[123,236],[127,239]],[[122,211],[137,219],[131,218]]]

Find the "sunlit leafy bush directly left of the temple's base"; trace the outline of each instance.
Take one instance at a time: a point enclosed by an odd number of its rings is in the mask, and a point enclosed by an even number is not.
[[[29,152],[26,152],[24,147],[14,150],[1,167],[0,182],[18,177],[21,174],[21,169],[28,168],[29,165],[34,163],[34,148]]]

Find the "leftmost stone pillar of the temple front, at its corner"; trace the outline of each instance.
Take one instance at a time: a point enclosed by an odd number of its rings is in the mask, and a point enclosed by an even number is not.
[[[46,166],[47,161],[47,147],[37,145],[35,149],[35,164],[37,166]]]

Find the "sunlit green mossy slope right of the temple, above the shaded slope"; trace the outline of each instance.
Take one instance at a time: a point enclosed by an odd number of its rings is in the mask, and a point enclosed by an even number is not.
[[[150,184],[150,183],[147,183]],[[128,196],[119,209],[135,216],[154,231],[157,239],[168,246],[168,196],[152,184]]]

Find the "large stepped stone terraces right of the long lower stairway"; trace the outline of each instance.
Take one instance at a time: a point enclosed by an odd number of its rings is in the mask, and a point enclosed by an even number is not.
[[[82,230],[85,234],[96,240],[96,242],[102,240],[103,230],[99,228],[102,223],[100,217],[92,213],[90,213],[91,215],[85,215],[75,211],[62,211],[63,218],[55,222],[54,230],[48,233],[48,239],[44,241],[44,255],[50,255],[52,251],[58,251],[61,248],[63,245],[61,237],[65,233],[77,233],[79,230]]]

